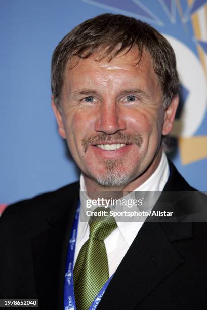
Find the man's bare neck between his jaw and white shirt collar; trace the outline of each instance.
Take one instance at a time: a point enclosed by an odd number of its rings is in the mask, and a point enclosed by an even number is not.
[[[98,197],[100,197],[100,194],[104,198],[109,198],[111,197],[111,195],[113,195],[114,199],[118,199],[125,196],[128,192],[134,191],[136,188],[141,186],[147,179],[150,178],[150,176],[157,169],[161,160],[161,156],[162,156],[162,148],[159,149],[158,153],[153,158],[152,162],[149,164],[149,166],[145,169],[144,172],[142,172],[136,178],[130,180],[128,184],[119,187],[101,186],[94,179],[84,174],[84,180],[88,196],[92,199],[97,199]]]

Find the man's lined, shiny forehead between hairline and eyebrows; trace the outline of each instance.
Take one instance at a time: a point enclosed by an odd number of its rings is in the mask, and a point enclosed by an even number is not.
[[[148,51],[143,49],[142,56],[137,48],[122,51],[110,61],[102,54],[94,53],[88,58],[73,58],[65,70],[67,87],[75,88],[76,84],[93,84],[111,81],[113,84],[138,82],[157,87],[158,76],[154,72],[153,61]],[[101,59],[101,60],[100,60]]]

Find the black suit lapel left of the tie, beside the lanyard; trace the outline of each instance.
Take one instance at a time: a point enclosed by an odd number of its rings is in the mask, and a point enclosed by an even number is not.
[[[68,240],[78,202],[78,188],[50,206],[45,229],[32,240],[36,289],[40,308],[62,309]],[[70,197],[71,196],[71,197]]]

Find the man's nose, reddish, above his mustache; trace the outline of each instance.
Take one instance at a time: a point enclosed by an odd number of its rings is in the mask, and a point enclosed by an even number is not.
[[[102,103],[95,123],[95,130],[111,135],[118,130],[125,129],[126,122],[121,115],[120,107],[115,102]]]

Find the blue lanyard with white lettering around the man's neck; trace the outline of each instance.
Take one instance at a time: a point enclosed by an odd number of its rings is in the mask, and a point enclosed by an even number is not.
[[[66,268],[65,268],[64,310],[76,310],[74,287],[73,287],[73,262],[74,262],[74,254],[75,254],[75,244],[76,244],[76,239],[77,239],[77,227],[78,227],[79,213],[80,213],[80,202],[78,202],[78,207],[75,212],[75,217],[74,217],[70,239],[69,239],[69,244],[68,244],[67,260],[66,260]],[[89,310],[95,310],[97,308],[112,277],[113,275],[106,281],[104,286],[101,288],[101,290],[95,297],[94,301],[92,302]]]

